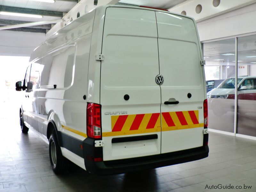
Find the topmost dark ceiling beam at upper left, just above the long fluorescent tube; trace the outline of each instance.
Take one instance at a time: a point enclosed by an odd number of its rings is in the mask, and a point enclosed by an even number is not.
[[[20,8],[20,7],[9,7],[9,6],[3,6],[3,5],[0,5],[0,11],[27,13],[27,14],[53,16],[53,17],[63,17],[63,12],[46,11],[46,10],[40,10],[40,9],[27,9],[27,8]]]

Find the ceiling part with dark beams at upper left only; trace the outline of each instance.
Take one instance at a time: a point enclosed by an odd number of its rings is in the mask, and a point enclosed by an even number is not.
[[[43,18],[18,17],[0,15],[0,26],[15,25],[25,22],[57,20],[63,17],[77,4],[78,0],[55,0],[55,3],[37,2],[31,0],[0,0],[0,11],[34,13],[43,15]],[[52,25],[40,25],[27,28],[8,29],[14,31],[28,31],[46,33]]]

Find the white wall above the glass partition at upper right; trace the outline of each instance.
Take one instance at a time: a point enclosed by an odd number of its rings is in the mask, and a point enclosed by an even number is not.
[[[200,41],[256,32],[256,3],[197,23]]]

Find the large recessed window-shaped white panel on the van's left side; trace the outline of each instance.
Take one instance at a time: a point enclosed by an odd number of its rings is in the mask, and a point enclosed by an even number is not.
[[[46,55],[42,61],[40,87],[56,85],[65,88],[71,85],[75,64],[76,46],[70,45]]]

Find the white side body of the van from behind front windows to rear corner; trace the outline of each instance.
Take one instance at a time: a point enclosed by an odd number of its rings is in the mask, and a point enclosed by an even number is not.
[[[94,14],[95,11],[78,18],[45,42],[38,92],[38,129],[44,135],[48,122],[53,120],[58,131],[68,137],[80,141],[86,138],[86,101],[83,96],[87,95]],[[47,88],[54,84],[56,88]]]

